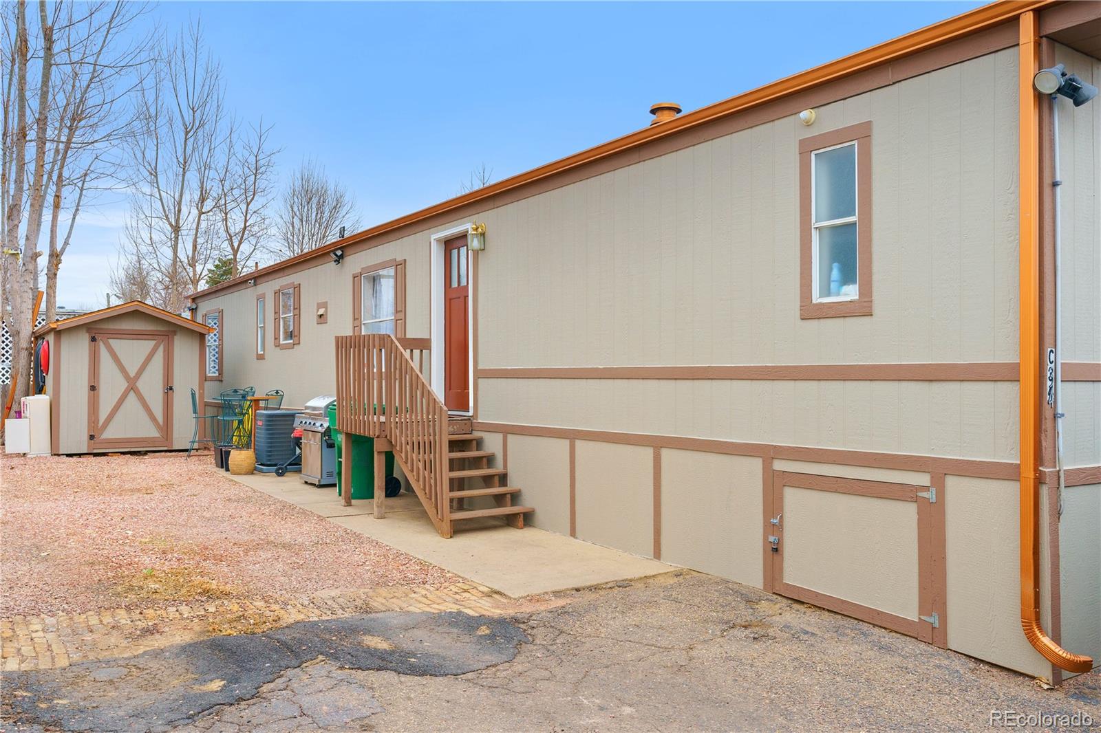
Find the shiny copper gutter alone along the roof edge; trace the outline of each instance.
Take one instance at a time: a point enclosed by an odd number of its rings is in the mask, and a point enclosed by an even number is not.
[[[925,51],[933,46],[948,43],[949,41],[953,41],[972,33],[978,33],[979,31],[993,25],[1013,20],[1021,13],[1031,10],[1042,10],[1044,8],[1060,4],[1064,1],[1065,0],[998,0],[996,2],[981,6],[974,10],[969,10],[966,13],[960,13],[959,15],[953,15],[947,20],[934,23],[933,25],[927,25],[916,31],[906,33],[905,35],[897,36],[890,41],[884,41],[883,43],[870,46],[863,51],[858,51],[849,54],[848,56],[842,56],[841,58],[811,67],[793,76],[778,79],[762,87],[757,87],[722,101],[715,102],[713,105],[708,105],[707,107],[701,107],[697,110],[693,110],[691,112],[686,112],[679,117],[668,120],[663,124],[655,124],[653,127],[645,127],[641,130],[635,130],[634,132],[614,138],[593,147],[586,149],[581,152],[574,153],[573,155],[567,155],[566,157],[558,158],[550,163],[531,168],[514,176],[510,176],[509,178],[499,180],[495,184],[490,184],[477,190],[470,192],[469,194],[446,199],[439,204],[435,204],[433,206],[413,211],[412,214],[407,214],[403,217],[375,225],[374,227],[356,232],[355,234],[350,234],[335,242],[315,248],[308,252],[304,252],[293,258],[287,258],[286,260],[281,260],[280,262],[265,265],[259,270],[253,270],[252,272],[238,275],[237,277],[227,280],[211,287],[196,291],[188,297],[194,300],[198,297],[212,295],[243,281],[272,274],[284,267],[299,262],[305,262],[313,258],[324,256],[341,247],[347,247],[348,244],[352,244],[361,240],[378,237],[379,234],[397,229],[399,227],[405,227],[407,225],[415,223],[416,221],[458,209],[467,204],[492,198],[493,196],[513,188],[547,178],[555,174],[608,157],[609,155],[643,145],[654,140],[659,140],[668,135],[674,135],[754,107],[759,107],[795,91],[809,89],[835,79],[863,72],[873,66],[879,66],[909,54]]]

